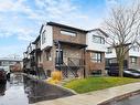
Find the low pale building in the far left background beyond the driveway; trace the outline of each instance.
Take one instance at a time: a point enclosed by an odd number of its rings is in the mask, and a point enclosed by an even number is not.
[[[0,57],[0,67],[4,69],[4,71],[12,71],[12,66],[20,65],[18,71],[22,71],[22,60],[19,57]],[[14,72],[14,71],[13,71]]]

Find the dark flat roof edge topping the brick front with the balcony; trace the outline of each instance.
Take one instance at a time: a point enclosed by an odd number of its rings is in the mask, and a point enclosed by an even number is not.
[[[74,28],[74,27],[69,27],[69,25],[65,25],[65,24],[61,24],[61,23],[56,23],[56,22],[46,22],[46,25],[55,25],[55,27],[75,30],[75,31],[80,31],[80,32],[85,32],[85,33],[88,32],[88,31],[83,30],[83,29],[78,29],[78,28]]]

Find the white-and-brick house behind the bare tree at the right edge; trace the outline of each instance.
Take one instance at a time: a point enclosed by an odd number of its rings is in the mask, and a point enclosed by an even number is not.
[[[123,62],[125,62],[123,66],[126,69],[140,70],[140,48],[138,45],[133,45],[126,54]],[[106,53],[106,66],[109,66],[115,63],[117,63],[115,49],[108,48],[108,51]]]

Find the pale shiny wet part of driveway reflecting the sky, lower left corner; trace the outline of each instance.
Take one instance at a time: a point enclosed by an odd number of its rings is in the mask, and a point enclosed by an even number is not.
[[[7,84],[0,84],[0,105],[29,105],[22,76],[12,78]]]

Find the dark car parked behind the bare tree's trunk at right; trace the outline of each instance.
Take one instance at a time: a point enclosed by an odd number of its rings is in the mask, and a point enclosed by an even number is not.
[[[118,76],[119,75],[119,70],[108,70],[108,75],[110,76]],[[134,69],[125,69],[123,70],[123,76],[125,77],[140,77],[140,71],[134,70]]]

